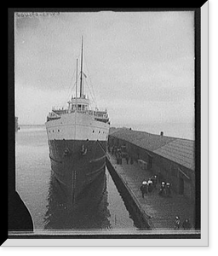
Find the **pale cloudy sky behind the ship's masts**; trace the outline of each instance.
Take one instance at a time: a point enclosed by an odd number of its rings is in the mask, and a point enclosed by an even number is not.
[[[37,14],[14,19],[14,103],[21,125],[44,124],[53,106],[75,94],[83,36],[84,93],[92,99],[95,92],[112,126],[193,137],[192,11]]]

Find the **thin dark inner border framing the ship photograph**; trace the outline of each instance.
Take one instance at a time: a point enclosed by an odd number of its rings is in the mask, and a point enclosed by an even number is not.
[[[205,3],[205,1],[204,1]],[[201,3],[200,7],[204,4]],[[198,3],[199,4],[199,3]],[[196,226],[200,228],[200,7],[198,8],[75,8],[75,9],[50,9],[50,8],[10,8],[8,9],[8,40],[9,40],[9,48],[8,48],[8,170],[9,170],[9,183],[12,184],[13,188],[15,189],[15,171],[14,171],[14,12],[17,11],[57,11],[57,12],[72,12],[72,11],[100,11],[100,10],[112,10],[112,11],[194,11],[195,12],[195,137],[196,137]],[[210,2],[209,2],[209,9],[211,9]],[[9,186],[10,186],[9,184]],[[163,235],[163,234],[155,234],[155,235],[77,235],[77,236],[37,236],[37,235],[24,235],[24,236],[9,236],[9,238],[81,238],[81,239],[175,239],[175,238],[199,238],[199,235],[192,234],[192,235]]]

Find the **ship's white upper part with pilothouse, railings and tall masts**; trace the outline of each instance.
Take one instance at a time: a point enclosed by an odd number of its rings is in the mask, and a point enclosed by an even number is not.
[[[49,140],[99,140],[106,141],[109,133],[107,111],[89,108],[89,98],[83,94],[83,38],[80,71],[80,95],[67,102],[68,108],[53,108],[46,122]]]

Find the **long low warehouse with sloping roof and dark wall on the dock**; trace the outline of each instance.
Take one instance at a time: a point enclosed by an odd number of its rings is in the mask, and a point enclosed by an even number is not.
[[[112,128],[109,147],[125,148],[145,172],[158,174],[179,195],[195,201],[194,141],[145,131]]]

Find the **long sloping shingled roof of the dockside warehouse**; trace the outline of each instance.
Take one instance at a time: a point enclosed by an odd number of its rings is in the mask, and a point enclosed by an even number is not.
[[[192,140],[165,137],[145,131],[133,131],[127,128],[113,129],[110,135],[194,170],[194,141]]]

